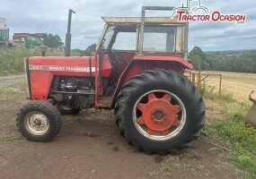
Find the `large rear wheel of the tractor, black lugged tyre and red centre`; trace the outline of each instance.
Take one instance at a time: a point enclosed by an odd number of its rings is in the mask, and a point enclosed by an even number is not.
[[[119,132],[148,154],[190,147],[205,123],[199,90],[178,72],[141,72],[122,87],[115,106]]]

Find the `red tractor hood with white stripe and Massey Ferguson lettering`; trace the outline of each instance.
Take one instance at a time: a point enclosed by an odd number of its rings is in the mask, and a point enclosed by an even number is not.
[[[102,56],[102,77],[111,72],[110,61]],[[27,77],[27,97],[45,100],[54,76],[94,77],[96,74],[95,56],[33,56],[25,59]]]

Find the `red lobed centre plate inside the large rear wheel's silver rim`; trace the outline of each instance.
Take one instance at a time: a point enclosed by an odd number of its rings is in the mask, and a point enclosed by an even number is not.
[[[142,112],[137,118],[137,123],[146,125],[149,134],[162,132],[163,135],[167,135],[172,127],[180,125],[177,114],[181,111],[181,106],[171,104],[170,94],[165,93],[162,98],[156,98],[154,93],[150,93],[148,102],[139,103],[137,109]]]

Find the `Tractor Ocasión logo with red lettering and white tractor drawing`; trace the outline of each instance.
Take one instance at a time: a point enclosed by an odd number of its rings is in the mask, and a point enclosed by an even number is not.
[[[186,4],[173,8],[172,17],[178,15],[178,21],[234,21],[236,24],[245,24],[246,14],[224,14],[216,10],[209,13],[201,0],[196,2],[197,5],[192,6],[192,0],[187,0]]]

